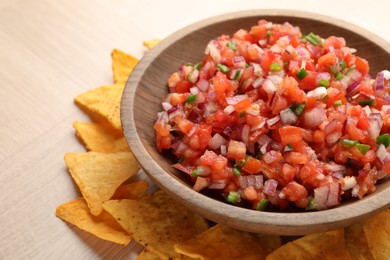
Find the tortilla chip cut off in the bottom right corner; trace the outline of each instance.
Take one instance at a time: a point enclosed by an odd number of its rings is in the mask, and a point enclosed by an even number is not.
[[[390,258],[390,210],[369,218],[363,226],[374,259]]]

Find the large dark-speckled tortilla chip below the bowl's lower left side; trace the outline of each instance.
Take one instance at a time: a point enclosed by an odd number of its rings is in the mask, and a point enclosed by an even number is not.
[[[178,258],[173,246],[208,229],[205,219],[172,200],[163,191],[141,200],[110,200],[103,203],[138,243],[163,259]]]

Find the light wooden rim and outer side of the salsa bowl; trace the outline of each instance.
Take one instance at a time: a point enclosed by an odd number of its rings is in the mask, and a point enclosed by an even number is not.
[[[180,29],[171,34],[158,43],[152,50],[146,53],[146,55],[134,68],[123,92],[121,100],[121,121],[123,132],[126,141],[130,145],[132,152],[134,153],[141,168],[152,179],[152,181],[157,184],[157,186],[168,192],[171,196],[173,196],[174,199],[180,200],[185,206],[192,208],[195,212],[204,216],[205,218],[217,222],[216,216],[223,212],[224,219],[219,219],[219,223],[257,233],[263,232],[275,235],[304,235],[308,233],[314,233],[310,232],[310,227],[315,227],[314,229],[317,231],[327,231],[329,229],[341,228],[347,224],[352,224],[353,222],[356,222],[362,218],[366,218],[382,209],[389,207],[390,186],[374,193],[378,196],[368,195],[364,198],[364,200],[359,200],[351,204],[343,205],[342,207],[336,207],[323,211],[277,213],[240,208],[212,199],[192,190],[190,187],[183,185],[175,177],[167,174],[155,160],[150,158],[148,151],[138,136],[132,109],[137,86],[144,75],[144,71],[147,70],[147,68],[152,64],[153,60],[157,58],[166,48],[168,48],[178,39],[191,34],[194,31],[198,31],[203,27],[214,23],[247,17],[259,17],[260,19],[261,16],[286,16],[329,23],[353,32],[359,32],[359,35],[367,38],[371,42],[374,42],[376,45],[386,50],[386,52],[389,52],[388,50],[390,50],[390,44],[388,42],[357,25],[323,14],[296,10],[258,9],[238,11],[214,16],[188,25],[183,29]],[[156,169],[158,170],[156,171]],[[187,189],[184,196],[179,197],[176,194],[175,190],[178,188]],[[386,201],[385,199],[380,198],[389,199]],[[204,205],[206,204],[208,208],[207,210],[204,208]],[[356,204],[358,204],[359,210],[356,209]],[[242,219],[242,216],[245,216],[245,220]],[[303,216],[305,216],[304,222],[302,221]],[[288,223],[286,223],[286,218],[288,218]],[[245,225],[242,226],[243,224]],[[302,232],[303,230],[305,231]]]

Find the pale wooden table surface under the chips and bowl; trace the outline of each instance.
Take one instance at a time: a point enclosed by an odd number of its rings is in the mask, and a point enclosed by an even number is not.
[[[299,9],[355,23],[390,41],[390,2],[2,0],[0,2],[0,259],[134,259],[142,249],[105,242],[65,224],[55,208],[79,196],[63,155],[84,151],[73,104],[112,82],[119,48],[139,58],[142,41],[213,15]],[[389,68],[388,68],[389,69]]]

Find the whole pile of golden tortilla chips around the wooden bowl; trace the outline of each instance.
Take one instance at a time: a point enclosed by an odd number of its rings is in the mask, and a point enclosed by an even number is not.
[[[144,42],[148,49],[158,40]],[[124,85],[138,60],[112,52],[114,84],[92,89],[74,102],[92,122],[75,122],[87,152],[65,154],[82,197],[57,207],[56,215],[95,236],[144,246],[137,259],[390,259],[390,210],[345,229],[307,235],[282,245],[278,236],[211,225],[171,200],[148,194],[127,146],[120,121]]]

